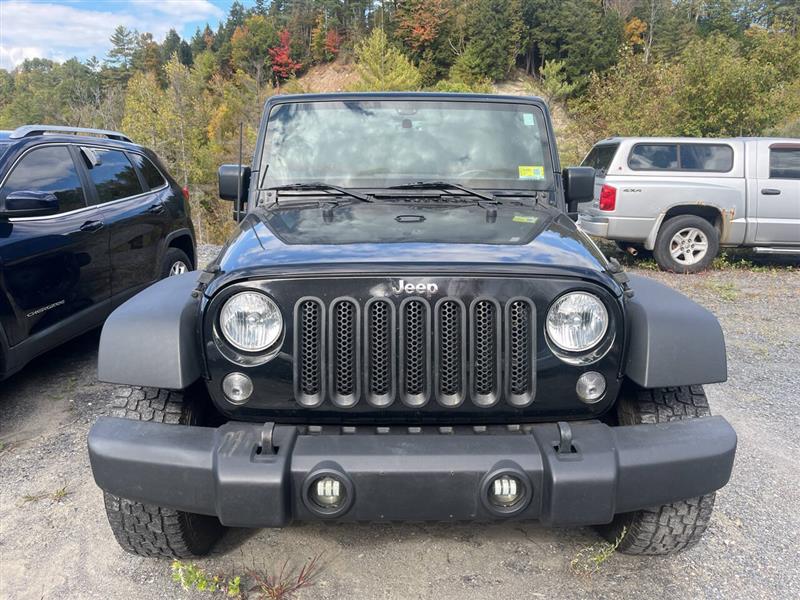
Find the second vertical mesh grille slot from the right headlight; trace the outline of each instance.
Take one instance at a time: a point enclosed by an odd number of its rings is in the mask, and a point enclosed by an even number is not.
[[[472,303],[470,392],[478,406],[492,406],[500,391],[500,307],[489,298]]]

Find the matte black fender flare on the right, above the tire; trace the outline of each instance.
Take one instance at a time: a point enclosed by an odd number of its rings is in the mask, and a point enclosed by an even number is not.
[[[725,336],[717,318],[653,279],[629,275],[625,375],[645,387],[720,383],[728,378]]]

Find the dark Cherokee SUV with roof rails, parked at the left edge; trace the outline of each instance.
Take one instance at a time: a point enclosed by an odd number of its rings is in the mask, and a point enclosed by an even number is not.
[[[113,131],[0,132],[0,379],[192,270],[188,195]]]

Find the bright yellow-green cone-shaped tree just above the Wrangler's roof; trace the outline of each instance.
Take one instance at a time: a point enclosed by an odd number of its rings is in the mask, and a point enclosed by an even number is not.
[[[417,68],[377,28],[356,47],[356,71],[361,81],[354,89],[361,91],[416,90],[422,83]]]

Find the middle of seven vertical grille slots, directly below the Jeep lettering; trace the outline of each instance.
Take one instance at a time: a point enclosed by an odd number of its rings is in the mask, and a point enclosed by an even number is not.
[[[408,298],[400,314],[400,393],[405,404],[419,407],[430,391],[430,306],[423,298]]]

